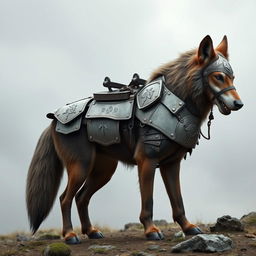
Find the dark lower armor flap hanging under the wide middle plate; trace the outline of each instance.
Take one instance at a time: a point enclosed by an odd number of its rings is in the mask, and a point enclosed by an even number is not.
[[[108,146],[120,142],[119,121],[101,118],[87,120],[88,139]]]

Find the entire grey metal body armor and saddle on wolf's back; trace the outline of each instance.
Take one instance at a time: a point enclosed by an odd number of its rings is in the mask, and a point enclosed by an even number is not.
[[[111,82],[106,77],[103,86],[108,91],[47,114],[57,120],[56,131],[69,134],[85,123],[88,139],[108,146],[120,143],[120,122],[136,119],[142,126],[152,127],[188,149],[195,147],[201,121],[166,87],[164,77],[146,83],[134,74],[129,85]]]

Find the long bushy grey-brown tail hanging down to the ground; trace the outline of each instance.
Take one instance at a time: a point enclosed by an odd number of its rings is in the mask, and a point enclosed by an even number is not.
[[[63,165],[54,148],[51,127],[48,127],[37,143],[27,175],[27,212],[33,233],[53,206],[62,174]]]

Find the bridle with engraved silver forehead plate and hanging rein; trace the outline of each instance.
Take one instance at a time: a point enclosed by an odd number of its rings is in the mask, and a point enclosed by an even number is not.
[[[232,67],[231,65],[229,64],[228,60],[226,58],[224,58],[224,56],[222,56],[221,54],[218,54],[217,55],[217,58],[211,62],[208,66],[206,66],[202,72],[202,79],[203,79],[203,84],[204,84],[204,87],[207,87],[211,90],[211,93],[213,94],[213,97],[212,97],[212,102],[214,100],[217,100],[219,101],[220,99],[220,96],[225,93],[225,92],[228,92],[228,91],[231,91],[231,90],[236,90],[235,86],[234,85],[230,85],[218,92],[214,91],[212,89],[212,87],[209,85],[209,82],[208,82],[208,76],[213,73],[213,72],[223,72],[225,73],[226,75],[228,75],[229,77],[233,77],[233,70],[232,70]],[[204,137],[206,140],[210,140],[211,138],[211,135],[210,135],[210,127],[211,127],[211,121],[214,119],[214,116],[213,116],[213,106],[211,108],[211,111],[210,111],[210,114],[209,114],[209,118],[208,118],[208,122],[207,122],[207,127],[208,127],[208,136],[205,136],[202,131],[200,130],[200,134],[202,135],[202,137]]]

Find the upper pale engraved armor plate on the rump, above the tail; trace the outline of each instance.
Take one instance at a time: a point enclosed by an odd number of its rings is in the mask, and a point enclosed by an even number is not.
[[[54,113],[54,116],[62,124],[67,124],[73,119],[75,119],[77,116],[79,116],[85,110],[85,107],[91,99],[92,98],[86,98],[83,100],[67,104],[64,107],[59,108]]]

